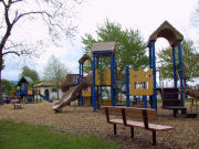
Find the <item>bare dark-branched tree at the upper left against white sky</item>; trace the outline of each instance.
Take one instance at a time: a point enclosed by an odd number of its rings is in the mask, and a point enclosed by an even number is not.
[[[59,45],[60,41],[72,39],[76,31],[73,24],[75,8],[82,0],[0,0],[0,79],[3,68],[3,56],[7,54],[32,55],[34,50],[27,47],[25,41],[13,39],[11,33],[27,21],[44,21],[51,40]],[[35,39],[36,40],[36,39]],[[0,82],[0,104],[2,91]]]

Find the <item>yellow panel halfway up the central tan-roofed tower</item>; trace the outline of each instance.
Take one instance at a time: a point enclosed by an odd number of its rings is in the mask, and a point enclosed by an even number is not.
[[[104,85],[104,86],[111,86],[112,82],[111,82],[111,68],[103,71],[103,76],[101,78],[98,70],[95,70],[95,84],[97,86],[100,85]],[[102,84],[101,84],[101,79],[102,79]]]

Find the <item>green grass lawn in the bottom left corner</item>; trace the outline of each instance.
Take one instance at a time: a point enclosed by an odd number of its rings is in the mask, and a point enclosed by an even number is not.
[[[118,149],[96,136],[56,134],[52,127],[0,120],[0,149]]]

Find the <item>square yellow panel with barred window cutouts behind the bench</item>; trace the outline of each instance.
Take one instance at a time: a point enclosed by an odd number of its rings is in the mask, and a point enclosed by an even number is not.
[[[153,70],[129,70],[129,94],[133,96],[145,96],[154,94]]]

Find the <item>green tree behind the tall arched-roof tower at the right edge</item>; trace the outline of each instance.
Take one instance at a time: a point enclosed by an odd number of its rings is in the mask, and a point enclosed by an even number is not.
[[[181,44],[182,61],[189,66],[186,81],[192,82],[193,78],[199,77],[199,53],[197,52],[191,40],[184,40]],[[161,75],[164,78],[174,78],[172,74],[172,50],[164,49],[158,53]],[[178,51],[176,50],[176,61],[178,62]]]

